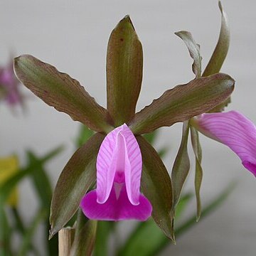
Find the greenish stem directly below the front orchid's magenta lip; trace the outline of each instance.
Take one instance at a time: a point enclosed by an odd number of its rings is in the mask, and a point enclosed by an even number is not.
[[[109,241],[110,234],[114,230],[114,221],[98,221],[97,222],[97,234],[95,241],[94,256],[107,256],[109,255]]]

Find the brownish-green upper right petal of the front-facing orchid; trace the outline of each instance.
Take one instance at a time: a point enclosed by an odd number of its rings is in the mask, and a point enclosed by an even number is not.
[[[223,73],[177,85],[135,114],[129,127],[134,134],[144,134],[159,127],[184,122],[223,102],[233,92],[234,85],[233,78]]]

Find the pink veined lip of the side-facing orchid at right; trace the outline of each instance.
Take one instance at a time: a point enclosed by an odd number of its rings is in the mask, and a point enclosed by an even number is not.
[[[236,111],[201,114],[193,118],[199,132],[232,149],[256,176],[256,126]]]

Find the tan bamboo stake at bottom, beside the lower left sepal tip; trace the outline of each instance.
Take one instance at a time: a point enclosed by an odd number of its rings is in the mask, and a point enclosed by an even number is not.
[[[59,256],[70,256],[75,236],[75,228],[63,228],[58,233]]]

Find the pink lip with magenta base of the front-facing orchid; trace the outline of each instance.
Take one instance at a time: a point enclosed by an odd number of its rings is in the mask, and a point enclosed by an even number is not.
[[[152,206],[139,192],[142,153],[132,131],[123,124],[107,134],[97,155],[97,188],[82,198],[87,218],[146,220]]]

